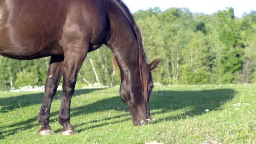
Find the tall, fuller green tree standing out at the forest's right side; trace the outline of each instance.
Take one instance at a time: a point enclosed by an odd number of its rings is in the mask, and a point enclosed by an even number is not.
[[[224,44],[217,61],[222,83],[235,83],[243,67],[244,44],[241,41],[241,22],[234,16],[234,9],[217,13],[219,17],[219,40]]]

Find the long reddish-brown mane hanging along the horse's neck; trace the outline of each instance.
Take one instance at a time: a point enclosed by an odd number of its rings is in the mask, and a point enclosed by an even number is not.
[[[134,34],[136,35],[137,43],[138,43],[138,61],[139,61],[139,74],[140,74],[140,83],[142,85],[142,94],[144,98],[148,99],[148,83],[149,83],[149,69],[147,67],[147,59],[146,54],[142,44],[141,32],[139,27],[137,26],[133,16],[129,10],[129,8],[123,3],[122,0],[113,0],[113,2],[117,5],[118,8],[123,12],[126,19],[133,27]]]

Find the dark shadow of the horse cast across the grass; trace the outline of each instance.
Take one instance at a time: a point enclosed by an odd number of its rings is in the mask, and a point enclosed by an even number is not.
[[[90,93],[93,91],[98,91],[101,89],[88,89],[88,90],[77,90],[75,93],[77,96],[83,95],[85,93]],[[60,92],[58,92],[60,93]],[[58,95],[57,93],[57,95]],[[43,93],[36,94],[38,95],[37,99],[42,100],[43,99]],[[205,109],[209,109],[211,111],[220,109],[222,104],[225,104],[227,101],[232,100],[233,96],[235,95],[235,91],[232,89],[216,89],[216,90],[203,90],[203,91],[155,91],[152,93],[151,99],[150,99],[150,109],[152,117],[154,115],[159,115],[163,113],[169,113],[173,111],[183,111],[179,114],[173,114],[169,117],[159,118],[154,123],[161,123],[166,120],[179,120],[183,117],[189,116],[189,117],[195,117],[197,115],[202,115]],[[6,99],[0,99],[0,104],[4,104],[5,101],[8,101],[10,104],[13,104],[10,100],[13,98],[19,99],[19,100],[25,100],[25,99],[35,99],[35,94],[29,94],[29,95],[22,95],[22,96],[16,96]],[[33,104],[40,104],[41,101],[34,101]],[[27,107],[29,105],[32,105],[28,103],[27,105],[22,105],[22,107]],[[123,117],[124,115],[130,115],[128,108],[125,104],[121,101],[119,96],[102,99],[99,101],[96,101],[92,104],[85,104],[80,107],[73,107],[71,109],[71,116],[77,116],[77,115],[87,115],[93,112],[105,112],[105,111],[125,111],[125,114],[117,115],[117,116],[110,116],[108,118],[105,118],[104,120],[110,120],[110,119],[118,119],[120,117]],[[52,115],[58,115],[58,112],[51,112]],[[71,118],[72,118],[71,117]],[[130,118],[117,120],[114,123],[120,123],[123,121],[131,120]],[[0,133],[5,132],[5,136],[0,137],[1,139],[4,139],[6,136],[14,135],[16,131],[19,129],[29,129],[36,126],[35,123],[36,116],[30,119],[27,119],[25,121],[21,121],[19,123],[13,123],[11,125],[5,125],[0,126],[0,129],[5,128],[11,128],[15,127],[13,129],[10,129],[8,131],[0,131]],[[50,119],[50,123],[53,121],[53,118]],[[85,125],[85,122],[80,122],[79,125],[74,125],[78,132],[84,131],[84,127],[81,127],[81,125]],[[132,124],[132,123],[131,123]],[[86,129],[90,128],[96,128],[101,127],[103,125],[106,125],[105,123],[96,123],[95,125],[89,125],[86,126]]]

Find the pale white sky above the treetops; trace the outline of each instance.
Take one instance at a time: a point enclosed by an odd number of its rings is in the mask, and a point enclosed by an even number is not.
[[[244,12],[256,11],[255,0],[123,0],[134,13],[138,10],[160,7],[162,11],[167,8],[189,8],[192,13],[212,14],[226,7],[235,10],[235,16],[241,17]]]

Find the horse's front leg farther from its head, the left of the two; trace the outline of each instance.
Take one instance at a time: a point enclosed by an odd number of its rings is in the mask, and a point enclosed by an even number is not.
[[[53,100],[53,96],[56,93],[60,78],[63,74],[63,61],[64,56],[51,57],[47,73],[47,80],[45,83],[45,95],[43,98],[43,104],[37,117],[37,120],[42,126],[42,128],[38,131],[39,135],[55,134],[51,131],[51,127],[49,125],[49,115],[51,101]]]

